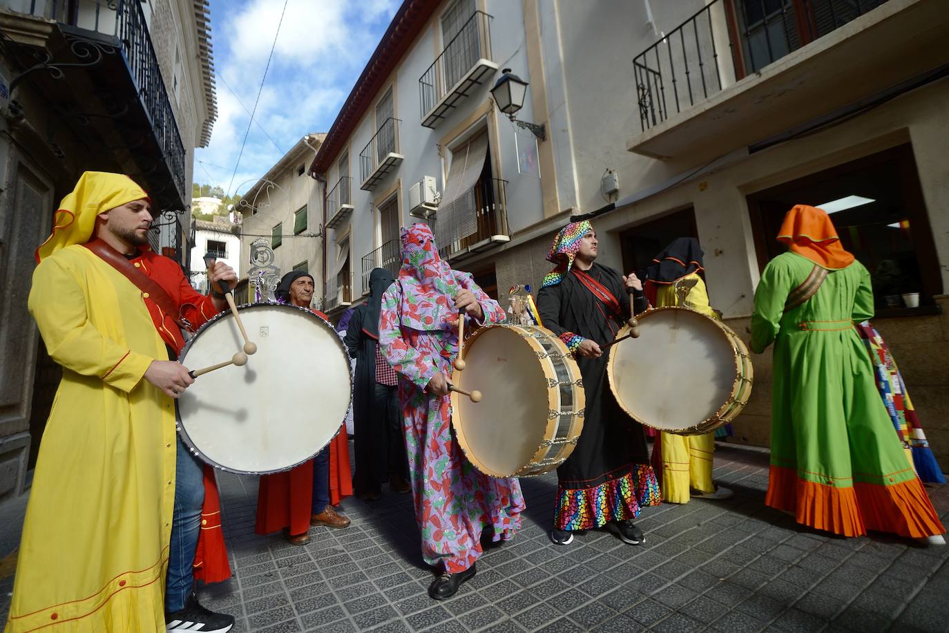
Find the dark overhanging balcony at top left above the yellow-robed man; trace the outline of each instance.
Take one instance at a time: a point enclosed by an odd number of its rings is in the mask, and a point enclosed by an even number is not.
[[[47,0],[2,3],[0,31],[15,90],[55,95],[44,121],[54,154],[78,141],[81,163],[128,174],[162,209],[183,210],[185,148],[140,2]],[[26,102],[26,101],[25,101]],[[27,106],[28,107],[28,106]],[[35,124],[35,123],[34,123]],[[64,157],[65,158],[65,157]]]

